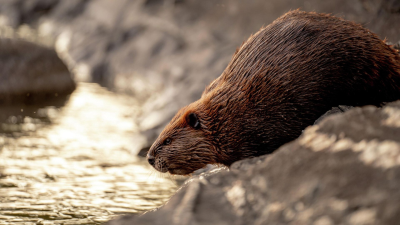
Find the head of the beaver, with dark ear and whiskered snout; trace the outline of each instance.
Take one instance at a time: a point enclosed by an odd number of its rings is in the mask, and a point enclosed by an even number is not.
[[[185,175],[217,163],[203,114],[194,108],[180,109],[150,147],[147,160],[156,170]]]

